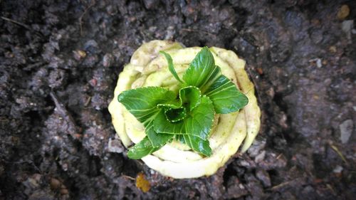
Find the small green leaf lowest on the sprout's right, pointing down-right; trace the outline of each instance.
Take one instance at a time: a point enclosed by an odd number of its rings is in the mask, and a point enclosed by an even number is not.
[[[209,140],[201,140],[200,137],[193,135],[183,135],[185,144],[188,144],[195,152],[204,154],[205,156],[211,156],[211,148],[209,146]]]

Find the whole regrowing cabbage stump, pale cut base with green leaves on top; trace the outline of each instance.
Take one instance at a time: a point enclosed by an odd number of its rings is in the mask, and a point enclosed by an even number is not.
[[[135,143],[128,157],[169,177],[201,177],[253,142],[261,115],[253,93],[232,51],[151,41],[120,73],[109,111],[122,143]]]

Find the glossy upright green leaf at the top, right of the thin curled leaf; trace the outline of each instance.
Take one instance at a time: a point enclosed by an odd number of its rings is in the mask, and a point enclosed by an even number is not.
[[[187,85],[200,88],[202,85],[219,73],[215,67],[213,54],[209,48],[204,47],[190,63],[189,68],[184,72],[182,79]]]

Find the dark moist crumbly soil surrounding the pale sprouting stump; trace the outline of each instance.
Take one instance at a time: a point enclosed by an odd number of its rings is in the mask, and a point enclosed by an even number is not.
[[[355,199],[355,19],[356,1],[0,0],[0,199]],[[153,39],[247,61],[261,131],[211,177],[162,177],[115,136],[117,75]]]

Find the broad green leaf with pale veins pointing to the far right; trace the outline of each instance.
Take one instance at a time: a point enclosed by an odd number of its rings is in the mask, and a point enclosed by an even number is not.
[[[209,85],[204,95],[210,98],[215,112],[219,114],[236,112],[248,103],[246,95],[241,93],[225,75],[220,75]]]

